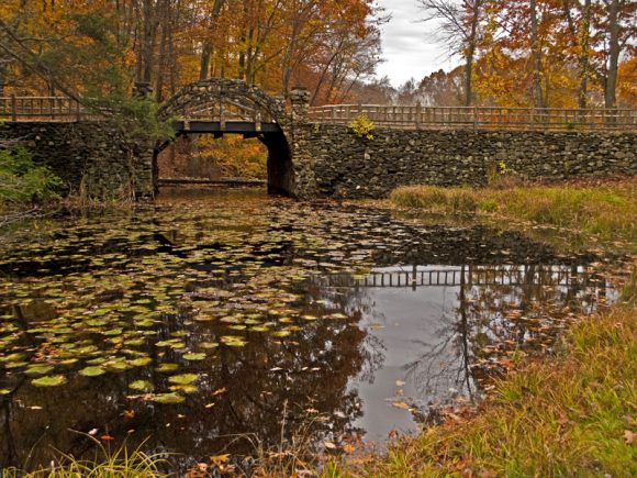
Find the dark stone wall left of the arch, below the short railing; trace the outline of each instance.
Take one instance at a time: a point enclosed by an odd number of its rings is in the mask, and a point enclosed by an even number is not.
[[[2,140],[19,140],[36,164],[63,179],[66,192],[100,199],[154,196],[153,144],[125,140],[107,123],[5,123]]]

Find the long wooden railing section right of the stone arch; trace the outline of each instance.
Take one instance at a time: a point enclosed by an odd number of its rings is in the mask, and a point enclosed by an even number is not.
[[[400,130],[637,131],[637,110],[335,104],[310,108],[314,123],[349,124],[366,114]]]

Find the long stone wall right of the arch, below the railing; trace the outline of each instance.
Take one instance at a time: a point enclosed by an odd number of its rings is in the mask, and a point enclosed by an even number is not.
[[[382,198],[399,186],[484,186],[501,162],[532,180],[637,175],[635,133],[297,127],[294,162],[310,165],[305,196]]]

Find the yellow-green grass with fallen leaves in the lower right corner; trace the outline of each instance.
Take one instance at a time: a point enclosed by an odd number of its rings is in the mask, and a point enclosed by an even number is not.
[[[474,418],[338,476],[637,476],[636,289],[633,274],[623,305],[573,325],[559,357],[499,382]]]

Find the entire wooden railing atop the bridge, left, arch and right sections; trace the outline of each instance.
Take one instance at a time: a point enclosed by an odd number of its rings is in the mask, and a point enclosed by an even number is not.
[[[267,114],[248,111],[244,104],[225,103],[188,111],[183,120],[272,122]],[[637,110],[630,109],[334,104],[309,110],[314,123],[347,125],[360,114],[366,114],[377,127],[399,130],[637,131]],[[72,122],[99,118],[103,115],[67,97],[0,97],[0,121]]]

